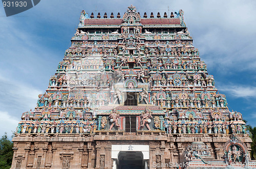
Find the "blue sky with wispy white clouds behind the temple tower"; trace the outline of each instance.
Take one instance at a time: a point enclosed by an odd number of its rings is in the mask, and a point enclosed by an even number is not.
[[[70,46],[80,12],[122,15],[131,4],[155,16],[168,14],[168,6],[170,12],[182,9],[194,46],[230,111],[256,126],[256,1],[44,0],[10,17],[0,7],[0,135],[11,135],[22,113],[36,106]]]

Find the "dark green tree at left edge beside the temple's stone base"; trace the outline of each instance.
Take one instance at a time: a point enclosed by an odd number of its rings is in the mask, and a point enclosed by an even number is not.
[[[9,169],[12,165],[13,143],[8,139],[5,133],[0,139],[0,168]]]

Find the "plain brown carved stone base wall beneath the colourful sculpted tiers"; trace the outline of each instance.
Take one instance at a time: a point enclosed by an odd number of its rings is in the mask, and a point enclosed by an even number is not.
[[[248,134],[238,138],[250,151]],[[112,168],[112,145],[148,145],[150,158],[148,166],[154,163],[185,163],[186,147],[193,142],[208,145],[210,156],[218,159],[224,155],[224,144],[229,140],[226,134],[166,134],[161,131],[100,131],[89,134],[16,134],[13,138],[14,168]]]

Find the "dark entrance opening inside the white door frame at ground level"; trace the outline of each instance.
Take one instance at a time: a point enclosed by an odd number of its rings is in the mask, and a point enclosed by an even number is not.
[[[121,151],[118,155],[118,169],[142,169],[143,154],[141,151]]]

